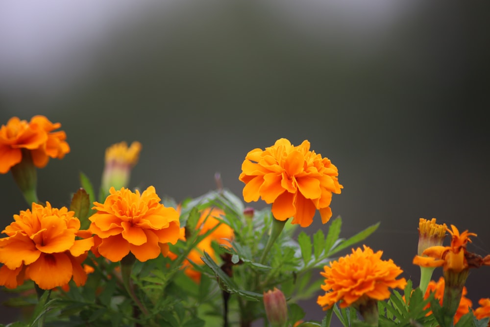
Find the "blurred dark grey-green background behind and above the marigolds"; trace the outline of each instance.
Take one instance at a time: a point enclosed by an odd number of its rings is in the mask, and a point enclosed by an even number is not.
[[[143,144],[131,186],[181,201],[241,194],[245,154],[281,137],[332,160],[341,236],[366,240],[418,281],[418,218],[478,233],[490,252],[489,8],[437,1],[0,2],[0,124],[43,114],[72,148],[38,172],[68,205],[109,145]],[[1,226],[26,204],[0,176]],[[263,202],[253,203],[262,208]],[[317,217],[319,218],[319,217]],[[319,219],[307,231],[324,230]],[[490,269],[490,268],[489,268]],[[490,296],[489,269],[468,296]],[[436,278],[441,272],[436,271]],[[6,295],[3,294],[3,297]],[[316,299],[302,303],[321,320]],[[15,320],[1,307],[0,323]]]

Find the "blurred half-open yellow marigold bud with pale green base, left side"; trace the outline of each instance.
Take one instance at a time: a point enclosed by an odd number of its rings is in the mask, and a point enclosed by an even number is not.
[[[102,190],[108,192],[113,186],[116,190],[127,187],[131,168],[138,162],[141,143],[133,142],[128,148],[126,142],[114,144],[105,151],[105,167],[102,174]]]

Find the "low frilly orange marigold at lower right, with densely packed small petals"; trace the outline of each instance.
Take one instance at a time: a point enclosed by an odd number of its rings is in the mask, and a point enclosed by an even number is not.
[[[327,310],[336,302],[345,308],[356,302],[385,300],[390,297],[389,288],[403,289],[407,284],[405,278],[396,279],[403,273],[392,259],[381,260],[382,251],[374,253],[369,247],[364,250],[352,249],[352,254],[330,262],[320,273],[325,277],[321,289],[325,295],[319,296],[317,303]]]

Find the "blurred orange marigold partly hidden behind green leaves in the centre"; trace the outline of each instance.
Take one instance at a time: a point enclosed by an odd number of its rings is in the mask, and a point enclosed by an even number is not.
[[[196,225],[199,235],[204,235],[209,230],[221,224],[221,221],[217,219],[221,216],[224,216],[224,211],[219,208],[206,208],[202,210]],[[180,239],[183,241],[186,240],[184,234],[184,228],[182,227]],[[221,224],[208,236],[202,239],[196,245],[196,247],[189,252],[187,258],[197,265],[204,264],[204,262],[201,260],[201,256],[203,256],[204,252],[208,253],[213,259],[216,259],[216,253],[211,246],[212,242],[215,241],[220,245],[231,247],[229,241],[233,239],[233,236],[233,229],[226,224]],[[169,257],[171,257],[173,260],[177,256],[174,253],[169,253]],[[192,278],[196,283],[201,280],[201,273],[196,271],[188,260],[184,260],[182,263],[182,269],[184,269],[184,273]]]

